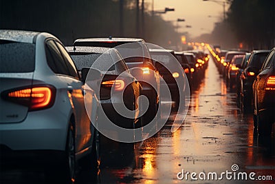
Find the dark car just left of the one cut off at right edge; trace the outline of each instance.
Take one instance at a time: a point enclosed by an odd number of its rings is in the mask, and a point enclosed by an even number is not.
[[[255,72],[259,72],[269,52],[270,50],[253,50],[248,65],[241,74],[240,104],[243,112],[252,107],[252,84],[256,77]]]

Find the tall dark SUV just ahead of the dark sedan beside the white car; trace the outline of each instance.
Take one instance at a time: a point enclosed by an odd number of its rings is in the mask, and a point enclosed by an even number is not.
[[[142,84],[141,93],[147,96],[149,101],[148,110],[143,115],[143,123],[149,123],[155,118],[159,107],[160,76],[143,39],[113,37],[76,39],[74,45],[115,48],[120,52],[128,68],[142,68],[143,74],[133,74],[133,76]]]

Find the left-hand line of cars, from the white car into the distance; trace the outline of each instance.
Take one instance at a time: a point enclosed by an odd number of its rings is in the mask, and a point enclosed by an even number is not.
[[[0,50],[1,165],[31,159],[50,165],[46,176],[59,183],[74,183],[78,166],[98,170],[101,134],[134,148],[144,127],[162,119],[161,82],[178,108],[179,92],[200,79],[209,59],[165,50],[179,63],[167,72],[175,63],[157,59],[163,50],[143,39],[77,39],[65,47],[52,34],[23,30],[0,30]],[[113,124],[134,131],[113,133]]]

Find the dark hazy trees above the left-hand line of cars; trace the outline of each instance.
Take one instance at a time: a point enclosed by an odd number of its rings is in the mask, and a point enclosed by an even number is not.
[[[146,9],[144,23],[141,9],[137,23],[136,3],[136,0],[0,0],[0,28],[50,32],[65,45],[78,38],[112,36],[142,37],[165,47],[179,37],[172,23],[157,14],[152,18]]]

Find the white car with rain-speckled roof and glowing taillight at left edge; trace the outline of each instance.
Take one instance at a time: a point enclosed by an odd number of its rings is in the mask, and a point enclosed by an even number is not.
[[[91,123],[98,99],[84,91],[61,41],[45,32],[0,30],[0,50],[1,158],[45,161],[54,166],[50,177],[65,183],[74,182],[80,159],[83,167],[98,167],[99,134]]]

